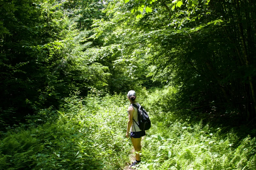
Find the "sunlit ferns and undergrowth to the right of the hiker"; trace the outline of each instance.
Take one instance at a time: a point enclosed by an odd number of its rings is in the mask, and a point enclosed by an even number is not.
[[[181,111],[163,112],[175,89],[147,93],[143,105],[152,127],[143,141],[142,170],[253,170],[256,139],[239,138],[233,129],[193,120]],[[165,100],[162,100],[165,98]],[[168,100],[167,100],[168,99]],[[182,116],[183,115],[183,116]]]

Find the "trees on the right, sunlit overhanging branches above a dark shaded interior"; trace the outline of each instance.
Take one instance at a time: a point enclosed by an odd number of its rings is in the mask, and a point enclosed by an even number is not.
[[[181,87],[180,108],[217,107],[254,119],[255,2],[125,2],[110,1],[108,20],[94,28],[94,36],[106,36],[103,49],[111,47],[116,64],[136,78],[146,65],[153,80]]]

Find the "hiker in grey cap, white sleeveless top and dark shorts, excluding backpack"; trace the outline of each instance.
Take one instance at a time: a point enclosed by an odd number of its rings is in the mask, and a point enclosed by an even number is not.
[[[136,93],[135,91],[131,90],[128,92],[127,94],[128,100],[130,102],[130,104],[135,104],[137,106],[139,106],[139,104],[135,101],[136,99]],[[130,133],[130,137],[131,137],[131,142],[132,145],[134,147],[135,150],[135,157],[136,160],[129,165],[129,168],[131,168],[132,166],[134,166],[135,164],[140,163],[140,154],[138,152],[141,151],[141,138],[142,136],[145,136],[145,131],[140,130],[139,126],[137,124],[139,124],[139,119],[138,119],[138,109],[136,107],[133,106],[129,106],[128,107],[128,124],[127,124],[127,131],[126,131],[126,137],[129,137],[129,131]],[[136,121],[136,123],[134,122]]]

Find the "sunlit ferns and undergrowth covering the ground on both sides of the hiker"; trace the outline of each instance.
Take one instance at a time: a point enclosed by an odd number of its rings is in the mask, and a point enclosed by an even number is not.
[[[224,126],[169,111],[174,88],[136,90],[152,127],[143,140],[142,170],[253,170],[256,139]],[[103,97],[104,96],[104,97]],[[65,98],[59,110],[28,116],[28,124],[1,134],[0,169],[123,169],[131,141],[125,138],[125,95],[95,92]],[[191,115],[191,114],[190,114]]]

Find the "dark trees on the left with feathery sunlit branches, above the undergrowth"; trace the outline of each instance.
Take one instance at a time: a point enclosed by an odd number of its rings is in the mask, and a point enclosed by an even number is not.
[[[73,90],[86,94],[88,87],[106,85],[108,68],[86,55],[92,44],[87,41],[90,31],[79,28],[80,20],[90,17],[89,24],[99,18],[101,13],[94,13],[91,7],[98,1],[78,4],[78,9],[72,8],[72,15],[68,8],[71,2],[67,1],[1,3],[0,108],[4,121],[8,123],[13,116],[23,117],[37,108],[58,107],[60,99]],[[90,9],[94,18],[80,15],[82,7]]]

